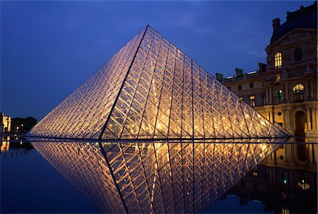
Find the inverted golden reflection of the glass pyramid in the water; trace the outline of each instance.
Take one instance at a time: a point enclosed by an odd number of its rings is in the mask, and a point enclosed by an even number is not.
[[[32,144],[103,213],[200,213],[278,146],[150,141],[105,143],[101,150],[98,143],[53,139]]]

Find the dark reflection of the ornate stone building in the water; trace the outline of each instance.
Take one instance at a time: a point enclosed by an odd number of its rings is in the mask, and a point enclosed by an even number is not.
[[[237,183],[230,194],[274,213],[317,213],[317,144],[285,144]]]

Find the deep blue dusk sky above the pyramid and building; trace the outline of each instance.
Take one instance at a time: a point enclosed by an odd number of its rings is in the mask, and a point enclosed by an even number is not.
[[[147,24],[209,73],[266,63],[273,18],[313,1],[1,1],[1,112],[42,119]]]

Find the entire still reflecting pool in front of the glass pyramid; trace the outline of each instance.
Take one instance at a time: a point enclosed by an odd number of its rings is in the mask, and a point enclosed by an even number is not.
[[[1,213],[317,213],[317,144],[30,140],[1,143]]]

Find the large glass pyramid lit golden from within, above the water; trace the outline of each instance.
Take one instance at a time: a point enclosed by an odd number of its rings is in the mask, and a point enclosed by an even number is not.
[[[28,135],[174,139],[286,133],[147,26]]]

